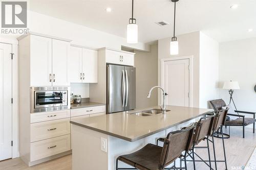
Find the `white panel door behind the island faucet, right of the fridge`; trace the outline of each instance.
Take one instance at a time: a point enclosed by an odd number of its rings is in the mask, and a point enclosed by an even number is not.
[[[166,104],[189,107],[189,59],[164,61],[162,76]]]

